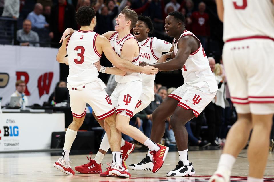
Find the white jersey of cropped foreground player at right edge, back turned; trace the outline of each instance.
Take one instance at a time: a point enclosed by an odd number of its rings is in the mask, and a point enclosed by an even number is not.
[[[271,0],[223,0],[223,41],[250,36],[274,38]]]

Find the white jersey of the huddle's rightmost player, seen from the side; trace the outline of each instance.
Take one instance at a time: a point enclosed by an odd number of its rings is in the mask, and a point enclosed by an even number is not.
[[[187,35],[194,36],[197,40],[199,40],[194,34],[187,30],[185,30],[181,34],[180,38]],[[175,43],[175,39],[173,40],[175,56],[178,51],[177,42]],[[197,86],[201,88],[205,84],[205,82],[207,82],[211,93],[218,90],[215,76],[210,69],[209,61],[201,43],[200,47],[196,51],[190,53],[182,69],[182,72],[184,77],[184,84],[191,84],[192,86]]]

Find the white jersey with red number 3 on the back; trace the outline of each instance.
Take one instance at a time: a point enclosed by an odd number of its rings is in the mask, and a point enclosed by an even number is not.
[[[74,88],[82,88],[87,83],[98,79],[97,68],[93,63],[99,61],[101,55],[95,47],[99,34],[93,31],[75,31],[66,45],[69,63],[67,82]]]

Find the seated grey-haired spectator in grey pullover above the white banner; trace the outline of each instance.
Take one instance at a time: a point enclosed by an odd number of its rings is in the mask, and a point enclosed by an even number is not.
[[[40,46],[38,34],[31,30],[30,20],[24,20],[23,29],[17,30],[17,40],[21,46]]]

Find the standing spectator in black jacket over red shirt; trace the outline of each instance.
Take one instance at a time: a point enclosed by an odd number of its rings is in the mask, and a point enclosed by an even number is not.
[[[49,36],[52,39],[52,47],[59,47],[59,40],[66,28],[77,28],[75,9],[66,0],[58,0],[58,4],[51,8],[51,22]],[[63,79],[63,78],[61,78]]]

